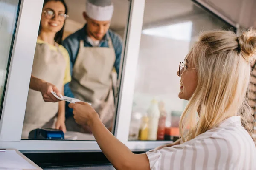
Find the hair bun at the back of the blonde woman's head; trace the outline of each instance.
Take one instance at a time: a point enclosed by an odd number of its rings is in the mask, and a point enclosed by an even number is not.
[[[241,53],[244,59],[249,60],[256,54],[256,31],[249,29],[238,37]]]

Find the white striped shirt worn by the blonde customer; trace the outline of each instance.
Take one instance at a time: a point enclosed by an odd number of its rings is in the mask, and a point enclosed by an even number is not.
[[[240,116],[188,142],[146,154],[151,170],[256,170],[256,147]]]

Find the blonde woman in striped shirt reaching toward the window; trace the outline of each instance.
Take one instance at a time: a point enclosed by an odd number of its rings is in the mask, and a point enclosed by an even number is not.
[[[256,170],[256,147],[242,126],[250,117],[247,90],[255,53],[253,31],[239,37],[231,31],[200,36],[177,72],[179,98],[189,103],[180,120],[180,143],[172,147],[134,154],[89,105],[80,102],[70,107],[77,123],[90,126],[118,170]]]

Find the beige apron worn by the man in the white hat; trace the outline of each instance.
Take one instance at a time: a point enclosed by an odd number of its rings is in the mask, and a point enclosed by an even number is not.
[[[84,41],[80,41],[70,88],[75,98],[92,103],[104,125],[111,127],[115,111],[112,79],[116,78],[112,77],[112,70],[116,54],[111,39],[108,45],[109,48],[84,47]],[[66,121],[67,130],[83,132],[74,125],[73,117]]]

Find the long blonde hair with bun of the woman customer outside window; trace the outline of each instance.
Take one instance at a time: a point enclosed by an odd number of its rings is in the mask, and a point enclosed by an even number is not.
[[[198,85],[180,119],[183,142],[217,127],[231,116],[241,116],[242,124],[247,125],[251,113],[247,100],[250,63],[255,53],[253,30],[239,37],[232,31],[201,34],[186,57],[197,69]]]

